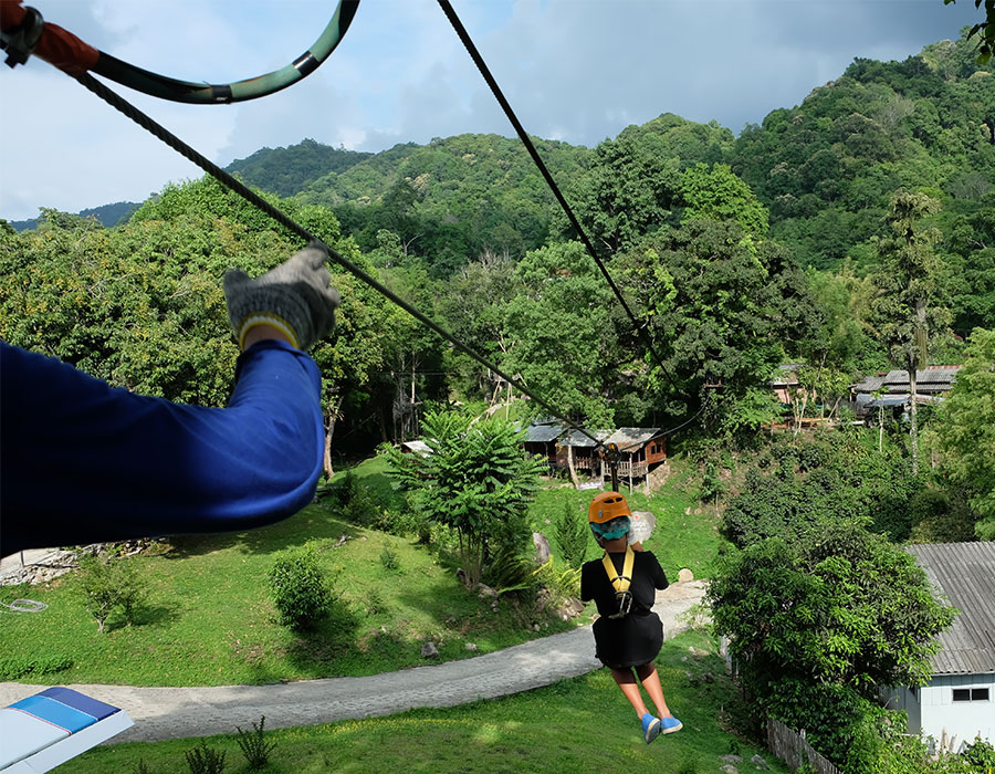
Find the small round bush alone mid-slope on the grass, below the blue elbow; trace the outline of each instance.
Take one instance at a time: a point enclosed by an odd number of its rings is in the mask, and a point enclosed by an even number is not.
[[[280,623],[307,629],[324,618],[335,603],[332,585],[317,561],[313,542],[280,556],[268,576]]]

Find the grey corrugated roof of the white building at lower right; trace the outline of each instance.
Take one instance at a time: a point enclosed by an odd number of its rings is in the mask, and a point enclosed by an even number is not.
[[[908,546],[961,614],[940,635],[936,674],[995,672],[995,542]]]

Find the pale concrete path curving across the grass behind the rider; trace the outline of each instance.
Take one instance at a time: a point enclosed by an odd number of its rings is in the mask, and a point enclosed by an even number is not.
[[[681,614],[701,602],[701,580],[657,594],[653,609],[670,638],[688,628]],[[362,678],[327,678],[272,686],[134,688],[70,686],[127,711],[135,725],[113,742],[185,739],[251,729],[260,715],[283,729],[387,715],[418,707],[453,707],[548,686],[600,667],[594,636],[583,627],[485,656]],[[0,707],[44,687],[0,682]]]

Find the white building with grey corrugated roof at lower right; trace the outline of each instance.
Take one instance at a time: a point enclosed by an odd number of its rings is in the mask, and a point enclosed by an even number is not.
[[[940,635],[933,678],[899,689],[888,707],[909,713],[909,732],[960,752],[975,736],[995,743],[995,543],[910,545],[930,580],[961,613]]]

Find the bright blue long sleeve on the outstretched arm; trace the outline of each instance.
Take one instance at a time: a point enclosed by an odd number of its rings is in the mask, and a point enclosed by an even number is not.
[[[321,375],[281,342],[243,353],[227,408],[111,387],[0,343],[0,555],[244,530],[311,502]]]

